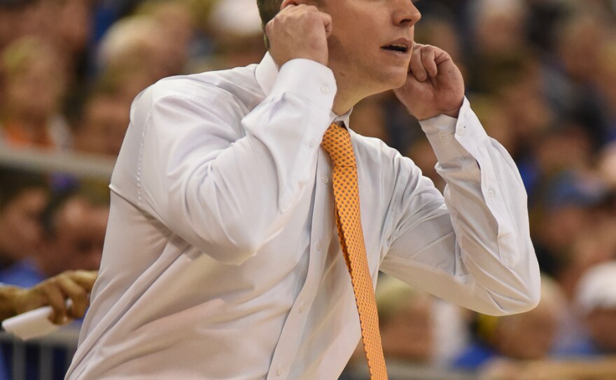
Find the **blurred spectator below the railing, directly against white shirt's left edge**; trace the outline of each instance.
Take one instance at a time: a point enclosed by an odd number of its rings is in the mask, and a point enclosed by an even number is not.
[[[43,213],[43,244],[1,271],[0,282],[30,287],[63,271],[97,270],[108,217],[109,205],[87,194],[54,198]]]

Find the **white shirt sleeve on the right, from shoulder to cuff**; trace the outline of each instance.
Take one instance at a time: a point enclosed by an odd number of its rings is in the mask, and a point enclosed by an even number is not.
[[[381,271],[481,313],[528,311],[538,304],[540,274],[512,158],[486,135],[468,100],[458,119],[438,116],[421,127],[447,181],[444,198],[400,160],[392,202],[399,217]]]

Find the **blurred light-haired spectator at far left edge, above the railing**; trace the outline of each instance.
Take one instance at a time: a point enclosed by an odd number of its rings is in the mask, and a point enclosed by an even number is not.
[[[0,142],[68,149],[71,132],[60,114],[64,75],[52,46],[36,37],[18,39],[2,52],[0,65],[5,75]]]

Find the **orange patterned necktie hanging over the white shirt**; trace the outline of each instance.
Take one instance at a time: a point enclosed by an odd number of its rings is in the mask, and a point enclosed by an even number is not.
[[[351,135],[345,128],[332,124],[323,136],[322,145],[334,164],[333,184],[338,237],[355,292],[361,340],[370,370],[370,379],[387,379],[381,334],[379,334],[377,302],[374,299],[361,227],[357,164],[351,145]]]

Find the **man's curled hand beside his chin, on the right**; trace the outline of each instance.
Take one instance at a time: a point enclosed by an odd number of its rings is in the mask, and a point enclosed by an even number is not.
[[[442,114],[457,118],[464,100],[464,79],[447,52],[416,43],[407,81],[395,95],[419,120]]]

